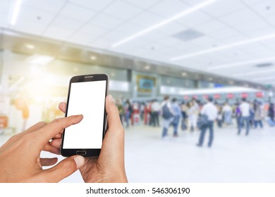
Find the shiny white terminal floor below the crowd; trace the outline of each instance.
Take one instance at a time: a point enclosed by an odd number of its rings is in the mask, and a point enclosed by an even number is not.
[[[216,129],[212,148],[195,146],[199,132],[179,135],[164,141],[161,128],[126,129],[129,182],[275,182],[275,127],[252,129],[249,136],[237,136],[233,127]],[[6,139],[0,136],[0,144]],[[63,182],[82,179],[75,172]]]

